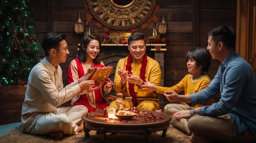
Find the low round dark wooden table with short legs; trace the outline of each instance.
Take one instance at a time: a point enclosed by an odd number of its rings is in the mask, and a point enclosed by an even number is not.
[[[171,116],[166,113],[153,113],[157,118],[148,119],[147,117],[135,116],[130,120],[120,120],[105,117],[103,111],[90,112],[82,116],[85,138],[90,137],[89,131],[96,130],[101,135],[101,141],[106,140],[106,133],[125,133],[125,134],[145,134],[146,142],[151,136],[151,132],[162,130],[162,137],[166,137],[166,132],[170,126]]]

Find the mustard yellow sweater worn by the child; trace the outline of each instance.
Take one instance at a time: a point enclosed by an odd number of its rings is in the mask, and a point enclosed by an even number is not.
[[[184,91],[185,95],[189,95],[192,93],[202,91],[205,87],[207,87],[210,84],[210,82],[211,82],[211,79],[207,75],[204,75],[201,78],[192,80],[192,74],[187,74],[177,85],[174,85],[173,87],[157,86],[157,93],[164,94],[165,91],[174,91],[176,93],[179,93],[181,91]],[[183,104],[188,105],[186,103],[183,103]],[[191,107],[191,108],[198,108],[201,106],[208,106],[211,104],[213,104],[213,98],[208,102],[197,104],[195,107]]]

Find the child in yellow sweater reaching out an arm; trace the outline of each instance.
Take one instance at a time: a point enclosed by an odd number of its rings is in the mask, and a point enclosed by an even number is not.
[[[209,76],[204,74],[204,72],[208,72],[211,65],[211,56],[209,52],[204,48],[194,48],[186,54],[186,61],[189,74],[187,74],[177,85],[174,85],[173,87],[159,87],[152,85],[147,81],[141,86],[141,88],[152,89],[161,94],[164,94],[165,91],[174,91],[176,93],[184,91],[185,95],[189,95],[202,91],[211,82]],[[197,104],[195,107],[190,107],[186,103],[167,104],[164,107],[164,111],[172,116],[173,119],[170,121],[171,125],[191,134],[188,128],[188,121],[186,119],[180,119],[180,121],[177,121],[174,119],[173,114],[181,110],[191,110],[201,106],[211,105],[212,103],[213,98],[208,102]]]

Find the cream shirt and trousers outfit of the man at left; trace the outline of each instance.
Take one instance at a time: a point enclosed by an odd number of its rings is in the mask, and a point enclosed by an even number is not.
[[[87,91],[81,90],[78,81],[63,87],[62,70],[55,68],[44,58],[29,74],[25,101],[22,105],[21,121],[24,132],[47,135],[62,131],[63,134],[77,134],[81,116],[88,109],[81,106],[57,108],[74,96]]]

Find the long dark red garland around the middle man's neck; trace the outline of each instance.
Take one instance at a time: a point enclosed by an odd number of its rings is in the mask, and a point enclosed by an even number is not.
[[[148,59],[147,59],[147,54],[145,53],[143,56],[143,60],[141,62],[141,68],[140,68],[140,73],[139,73],[139,78],[141,78],[141,80],[145,81],[145,74],[146,74],[146,67],[147,67],[147,63],[148,63]],[[131,73],[132,70],[132,56],[131,54],[128,55],[127,58],[127,64],[126,64],[126,71],[129,71]],[[129,93],[130,96],[132,97],[132,104],[134,107],[138,106],[138,100],[137,100],[137,92],[134,91],[134,84],[133,83],[128,83],[129,87]]]

